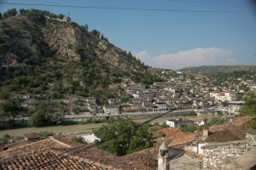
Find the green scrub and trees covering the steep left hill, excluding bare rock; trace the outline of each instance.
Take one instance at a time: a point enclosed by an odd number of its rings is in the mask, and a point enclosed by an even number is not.
[[[46,20],[45,16],[60,20],[64,17],[63,14],[33,8],[20,8],[19,12],[12,8],[3,13],[0,64],[5,66],[0,66],[1,118],[19,114],[32,116],[32,126],[51,125],[60,122],[61,115],[69,111],[70,108],[63,102],[69,95],[93,96],[97,105],[104,105],[108,103],[108,98],[127,101],[119,86],[124,79],[146,84],[162,81],[131,52],[110,44],[100,31],[89,31],[86,24],[79,26],[72,21]],[[45,40],[45,37],[52,37],[55,32],[65,31],[66,28],[78,31],[84,35],[81,38],[88,41],[86,47],[67,44],[67,48],[73,54],[78,54],[79,59],[67,59],[66,56],[57,54],[56,49]],[[24,42],[30,43],[24,45]],[[99,50],[97,42],[107,44],[109,51],[113,48],[118,51],[119,57],[123,57],[131,68],[113,67],[100,56],[96,57],[96,50]],[[108,50],[103,50],[100,54],[105,54]],[[35,95],[32,98],[35,101],[32,102],[33,109],[21,107],[25,100],[19,98],[21,94]],[[77,113],[80,110],[73,107],[72,111]]]

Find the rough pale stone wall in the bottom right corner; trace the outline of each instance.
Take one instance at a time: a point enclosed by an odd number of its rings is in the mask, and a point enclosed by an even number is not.
[[[247,150],[256,146],[256,136],[247,134],[247,139],[227,143],[207,144],[204,150],[203,169],[226,169],[235,157],[244,155]]]

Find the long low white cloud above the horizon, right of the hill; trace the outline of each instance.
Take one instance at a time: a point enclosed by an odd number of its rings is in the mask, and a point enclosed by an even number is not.
[[[177,54],[160,54],[150,57],[147,51],[142,51],[135,56],[148,65],[168,69],[181,69],[189,66],[200,65],[230,65],[236,59],[230,57],[231,51],[223,48],[194,48],[179,51]]]

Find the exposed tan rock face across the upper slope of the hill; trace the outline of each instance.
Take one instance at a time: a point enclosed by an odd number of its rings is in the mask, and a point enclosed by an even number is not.
[[[46,19],[33,22],[18,15],[0,20],[0,61],[12,60],[7,54],[18,56],[18,62],[37,57],[56,55],[63,59],[101,59],[110,67],[136,70],[140,61],[113,46],[106,38],[95,37],[73,22]],[[13,62],[13,61],[9,61]]]

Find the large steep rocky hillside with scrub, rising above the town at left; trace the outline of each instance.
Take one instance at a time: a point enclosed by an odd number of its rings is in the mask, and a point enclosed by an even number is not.
[[[124,79],[160,81],[152,68],[115,47],[100,31],[37,9],[3,14],[0,64],[0,99],[16,94],[63,99],[77,94],[104,102],[120,97],[118,84]]]

